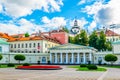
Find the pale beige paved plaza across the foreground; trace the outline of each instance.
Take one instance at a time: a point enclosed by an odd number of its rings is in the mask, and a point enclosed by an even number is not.
[[[62,67],[62,70],[0,68],[0,80],[120,80],[120,69],[108,68],[106,72],[91,72]]]

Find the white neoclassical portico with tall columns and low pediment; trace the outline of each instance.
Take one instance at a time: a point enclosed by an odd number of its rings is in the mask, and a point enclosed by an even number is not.
[[[52,64],[87,64],[94,63],[96,49],[89,46],[64,44],[50,48],[50,62]]]

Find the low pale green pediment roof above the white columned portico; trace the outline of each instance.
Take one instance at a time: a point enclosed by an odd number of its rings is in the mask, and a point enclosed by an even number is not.
[[[64,45],[59,45],[59,46],[56,46],[56,47],[52,47],[52,48],[49,48],[50,50],[61,50],[61,49],[94,49],[96,50],[95,48],[93,47],[90,47],[90,46],[83,46],[83,45],[77,45],[77,44],[71,44],[71,43],[68,43],[68,44],[64,44]]]

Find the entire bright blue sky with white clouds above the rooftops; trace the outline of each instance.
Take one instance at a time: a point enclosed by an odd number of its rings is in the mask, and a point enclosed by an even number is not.
[[[0,0],[0,32],[9,34],[50,31],[74,19],[89,32],[120,24],[120,0]],[[120,32],[119,29],[116,32]]]

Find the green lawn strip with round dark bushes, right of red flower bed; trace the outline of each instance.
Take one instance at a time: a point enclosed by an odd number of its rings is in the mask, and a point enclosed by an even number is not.
[[[98,67],[97,70],[89,70],[87,67],[80,67],[80,66],[69,66],[69,68],[76,68],[77,71],[106,71],[106,68]]]

